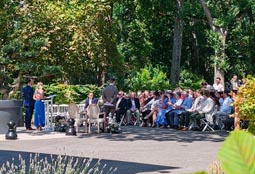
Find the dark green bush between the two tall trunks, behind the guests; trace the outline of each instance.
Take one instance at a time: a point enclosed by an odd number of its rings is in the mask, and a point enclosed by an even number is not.
[[[181,71],[179,86],[182,89],[190,88],[192,90],[200,89],[204,80],[192,71],[184,69]]]

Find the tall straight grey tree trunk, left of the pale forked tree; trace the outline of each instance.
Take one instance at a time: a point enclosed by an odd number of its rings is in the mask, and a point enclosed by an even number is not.
[[[179,82],[181,72],[181,51],[182,51],[182,39],[183,39],[183,21],[181,14],[183,11],[183,0],[177,0],[178,14],[174,23],[174,44],[172,52],[171,63],[171,85],[176,85]]]

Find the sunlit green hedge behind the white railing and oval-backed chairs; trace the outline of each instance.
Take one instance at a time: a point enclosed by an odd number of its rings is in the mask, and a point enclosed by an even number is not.
[[[84,101],[90,92],[93,92],[95,97],[100,97],[101,89],[95,85],[66,85],[66,84],[51,84],[44,85],[45,95],[57,96],[54,98],[56,104],[80,103]]]

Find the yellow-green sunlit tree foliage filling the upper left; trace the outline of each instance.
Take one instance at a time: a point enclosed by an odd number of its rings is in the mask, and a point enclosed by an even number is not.
[[[0,63],[7,74],[22,72],[50,83],[76,84],[86,80],[84,71],[94,75],[87,79],[98,83],[107,66],[123,70],[109,18],[110,2],[20,3],[6,1],[3,6],[8,8],[0,11],[5,14],[0,21]]]

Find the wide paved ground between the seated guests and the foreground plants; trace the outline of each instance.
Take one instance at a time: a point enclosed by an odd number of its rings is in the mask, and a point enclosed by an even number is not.
[[[197,132],[160,128],[122,127],[120,134],[92,133],[65,136],[64,133],[25,131],[17,140],[0,134],[0,166],[21,154],[40,153],[101,159],[118,174],[192,173],[207,170],[228,133]]]

